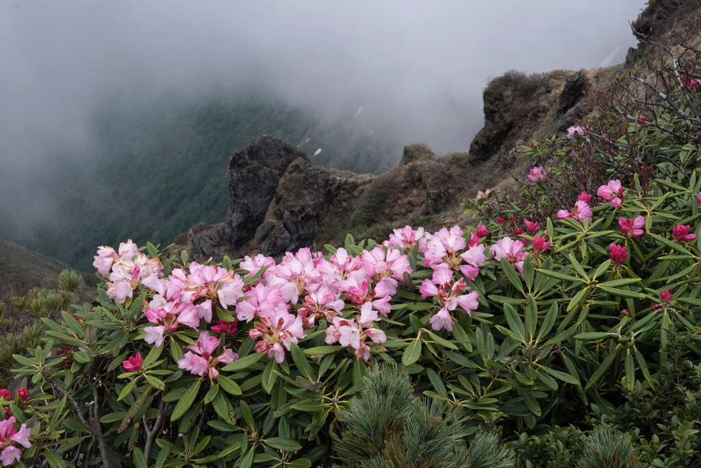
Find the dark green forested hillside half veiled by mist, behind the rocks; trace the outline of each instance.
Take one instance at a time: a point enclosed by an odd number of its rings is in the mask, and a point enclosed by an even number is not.
[[[402,146],[386,129],[373,131],[355,106],[316,116],[261,89],[123,104],[95,116],[93,154],[78,158],[88,162],[57,154],[35,175],[31,183],[55,194],[54,216],[29,234],[0,222],[1,238],[88,270],[95,245],[127,236],[168,243],[198,222],[223,220],[226,162],[256,136],[293,142],[317,163],[360,173],[386,171]]]

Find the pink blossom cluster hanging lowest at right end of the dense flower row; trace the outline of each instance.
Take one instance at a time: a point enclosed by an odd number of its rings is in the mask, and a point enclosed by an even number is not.
[[[436,297],[441,309],[429,320],[434,330],[453,330],[453,319],[449,312],[458,307],[462,307],[470,315],[472,310],[477,309],[477,297],[479,293],[461,294],[464,290],[469,290],[463,279],[453,281],[453,272],[447,268],[440,268],[433,272],[431,279],[424,279],[418,292],[421,297]],[[452,284],[451,284],[452,283]]]

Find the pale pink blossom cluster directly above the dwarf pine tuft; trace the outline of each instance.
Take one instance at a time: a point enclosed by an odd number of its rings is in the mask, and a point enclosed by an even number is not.
[[[355,319],[334,316],[326,329],[326,342],[328,345],[338,342],[341,346],[351,347],[355,349],[355,356],[367,361],[370,359],[370,347],[366,340],[376,345],[387,340],[383,330],[372,328],[374,322],[379,320],[377,312],[366,302],[360,308],[360,316],[356,315]]]

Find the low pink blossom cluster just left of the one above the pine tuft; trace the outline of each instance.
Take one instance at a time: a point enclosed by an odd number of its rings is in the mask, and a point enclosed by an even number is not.
[[[255,328],[248,332],[256,343],[257,352],[268,352],[268,357],[278,363],[285,359],[285,351],[280,345],[284,345],[289,351],[291,343],[297,343],[299,339],[306,337],[302,328],[301,316],[288,313],[285,309],[278,308],[268,316],[261,316],[261,320]]]

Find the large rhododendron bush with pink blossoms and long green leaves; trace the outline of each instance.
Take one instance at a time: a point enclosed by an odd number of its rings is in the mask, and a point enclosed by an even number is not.
[[[97,300],[43,318],[43,346],[15,355],[0,461],[329,466],[381,361],[465,440],[523,443],[657,392],[674,349],[701,360],[699,89],[668,90],[681,116],[626,102],[524,147],[538,165],[517,193],[465,201],[476,227],[277,260],[98,248]],[[665,450],[637,436],[650,460]]]

